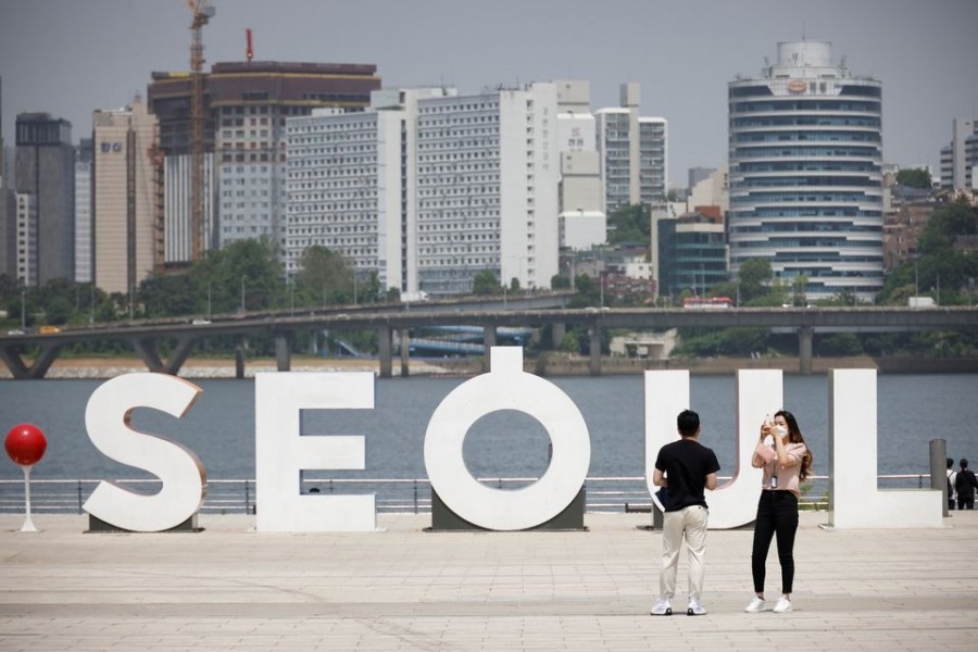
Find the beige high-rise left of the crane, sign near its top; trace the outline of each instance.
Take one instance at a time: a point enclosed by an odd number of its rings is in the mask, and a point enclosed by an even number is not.
[[[162,236],[156,118],[138,98],[96,111],[92,140],[93,280],[106,292],[131,297],[153,273]]]

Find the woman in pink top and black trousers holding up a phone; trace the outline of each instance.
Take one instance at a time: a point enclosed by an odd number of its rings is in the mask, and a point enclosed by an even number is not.
[[[773,443],[765,442],[767,436]],[[775,613],[791,611],[791,589],[794,582],[794,534],[798,531],[798,499],[802,480],[812,474],[812,452],[805,446],[794,415],[785,410],[775,414],[774,422],[761,426],[761,439],[751,457],[754,468],[764,469],[757,518],[754,522],[754,544],[751,551],[751,573],[754,578],[754,599],[748,613],[764,606],[764,577],[770,540],[778,539],[778,561],[781,564],[781,598]]]

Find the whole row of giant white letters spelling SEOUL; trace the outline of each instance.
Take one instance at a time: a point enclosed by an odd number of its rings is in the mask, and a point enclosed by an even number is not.
[[[876,372],[829,374],[829,524],[840,528],[941,527],[940,491],[880,491],[876,487]],[[732,478],[707,496],[710,525],[725,529],[753,521],[761,472],[751,467],[757,424],[782,404],[780,371],[737,374],[737,462]],[[176,418],[202,390],[165,374],[128,374],[92,392],[85,424],[106,456],[162,481],[152,496],[101,481],[84,509],[130,531],[164,531],[196,516],[206,493],[206,473],[179,442],[131,427],[134,410],[151,408]],[[649,494],[659,449],[675,440],[675,417],[692,405],[689,372],[645,372],[644,460]],[[365,468],[365,436],[300,436],[302,410],[372,410],[372,373],[263,373],[255,376],[255,529],[265,532],[373,531],[373,494],[304,494],[303,471]],[[552,460],[536,482],[501,490],[477,481],[462,444],[480,417],[501,410],[537,419],[553,444]],[[743,436],[741,436],[743,435]],[[580,411],[552,383],[523,371],[523,349],[493,347],[491,368],[455,388],[436,408],[425,434],[424,460],[431,487],[456,515],[490,530],[523,530],[564,510],[584,486],[590,438]]]

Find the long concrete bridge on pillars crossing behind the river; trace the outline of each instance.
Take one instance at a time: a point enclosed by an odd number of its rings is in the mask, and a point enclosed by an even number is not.
[[[581,324],[590,334],[589,372],[601,374],[601,333],[605,328],[666,330],[675,327],[738,328],[761,327],[791,330],[799,338],[799,371],[812,373],[812,339],[816,330],[966,330],[978,328],[978,308],[971,306],[852,306],[852,308],[735,308],[726,310],[688,309],[567,309],[566,296],[530,297],[482,302],[430,302],[394,306],[344,308],[344,312],[265,313],[214,318],[206,323],[187,319],[108,324],[99,328],[78,328],[51,334],[0,336],[0,359],[14,378],[42,378],[60,350],[74,342],[122,339],[151,372],[176,375],[193,352],[196,342],[206,337],[231,336],[242,341],[265,333],[275,340],[278,371],[289,371],[292,341],[302,330],[373,329],[378,334],[380,376],[392,376],[393,337],[399,336],[401,375],[408,375],[409,331],[465,325],[482,329],[482,346],[497,344],[498,329],[552,325],[554,339],[562,337],[568,324]],[[200,322],[200,321],[199,321]],[[167,360],[160,355],[162,340],[176,342]],[[39,347],[28,364],[26,347]],[[237,376],[243,377],[243,346],[237,351]],[[488,355],[486,358],[488,368]]]

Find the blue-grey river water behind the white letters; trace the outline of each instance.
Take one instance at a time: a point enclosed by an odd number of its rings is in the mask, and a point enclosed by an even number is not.
[[[437,405],[463,378],[411,377],[376,380],[375,409],[310,411],[303,429],[317,435],[364,435],[366,469],[329,472],[336,478],[426,478],[424,435]],[[642,376],[551,379],[584,414],[598,476],[641,476],[644,469]],[[103,380],[0,380],[0,429],[38,425],[48,450],[33,469],[37,479],[143,478],[99,452],[85,430],[85,406]],[[254,381],[195,380],[203,394],[183,419],[140,409],[133,424],[192,450],[209,479],[254,477]],[[734,375],[691,376],[691,408],[701,415],[701,441],[713,448],[722,471],[735,457]],[[881,375],[878,392],[879,475],[929,472],[929,440],[942,438],[948,453],[978,459],[978,374]],[[772,405],[772,412],[781,408]],[[828,378],[785,376],[785,408],[795,414],[815,454],[815,473],[828,473]],[[503,411],[482,417],[465,439],[464,455],[478,477],[539,477],[547,468],[549,438],[531,417]],[[21,478],[10,461],[0,479]]]

